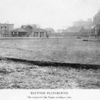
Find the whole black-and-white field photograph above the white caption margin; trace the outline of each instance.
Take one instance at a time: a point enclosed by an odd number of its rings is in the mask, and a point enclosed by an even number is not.
[[[0,0],[0,91],[99,90],[100,0]]]

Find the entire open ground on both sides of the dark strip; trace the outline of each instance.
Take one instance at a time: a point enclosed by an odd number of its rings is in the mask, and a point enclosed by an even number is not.
[[[0,58],[56,61],[100,65],[100,42],[76,38],[0,39]],[[74,69],[71,66],[37,66],[0,61],[1,89],[100,88],[100,69]]]

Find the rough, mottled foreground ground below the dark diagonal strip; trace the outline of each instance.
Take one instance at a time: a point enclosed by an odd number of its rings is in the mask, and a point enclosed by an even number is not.
[[[99,89],[100,69],[0,61],[0,89]]]

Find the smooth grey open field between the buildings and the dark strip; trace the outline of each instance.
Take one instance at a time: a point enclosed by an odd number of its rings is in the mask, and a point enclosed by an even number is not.
[[[36,61],[100,64],[100,42],[67,38],[1,38],[0,56]]]

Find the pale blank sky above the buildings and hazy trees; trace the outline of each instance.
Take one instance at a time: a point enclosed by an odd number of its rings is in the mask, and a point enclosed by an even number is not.
[[[100,9],[100,0],[0,0],[0,23],[38,24],[63,29],[87,20]]]

